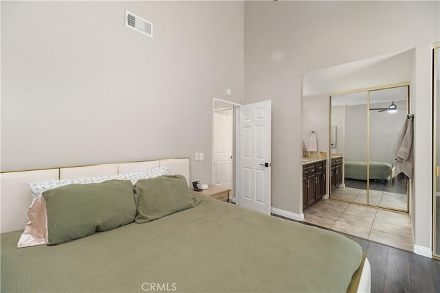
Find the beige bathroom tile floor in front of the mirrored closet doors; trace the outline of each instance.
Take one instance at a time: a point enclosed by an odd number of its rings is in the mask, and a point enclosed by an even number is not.
[[[376,209],[355,202],[322,199],[305,209],[303,222],[395,248],[413,250],[412,228],[407,213]]]

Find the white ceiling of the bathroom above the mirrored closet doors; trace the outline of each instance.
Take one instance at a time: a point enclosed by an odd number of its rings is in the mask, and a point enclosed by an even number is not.
[[[303,97],[409,82],[415,49],[306,73]]]

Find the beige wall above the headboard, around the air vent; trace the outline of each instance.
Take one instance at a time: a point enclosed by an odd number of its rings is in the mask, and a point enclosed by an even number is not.
[[[154,38],[124,27],[125,9]],[[1,171],[190,156],[210,183],[212,98],[243,102],[243,10],[1,1]]]

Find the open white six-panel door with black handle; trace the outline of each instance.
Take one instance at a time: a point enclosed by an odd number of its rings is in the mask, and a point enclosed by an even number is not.
[[[237,204],[270,214],[271,101],[239,107]]]

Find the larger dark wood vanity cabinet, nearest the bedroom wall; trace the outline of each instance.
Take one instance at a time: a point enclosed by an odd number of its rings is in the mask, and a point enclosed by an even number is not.
[[[325,161],[303,165],[303,209],[325,195],[325,171]]]

